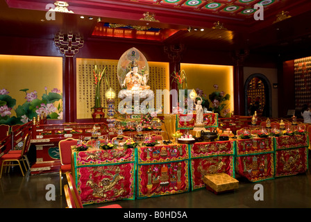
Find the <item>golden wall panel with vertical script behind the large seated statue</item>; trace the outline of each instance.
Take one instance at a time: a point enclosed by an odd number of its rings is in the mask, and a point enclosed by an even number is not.
[[[151,90],[169,89],[169,63],[167,62],[148,62],[149,63],[149,81],[147,85],[151,86]],[[76,100],[77,100],[77,119],[92,118],[92,107],[94,107],[94,76],[93,69],[97,65],[101,70],[107,67],[107,74],[112,89],[119,93],[121,86],[117,79],[118,60],[100,60],[100,59],[76,59]],[[101,105],[107,107],[105,92],[108,89],[104,80],[101,83]],[[162,99],[162,103],[163,103]],[[119,104],[120,99],[116,99],[115,106]],[[155,106],[155,105],[154,105]]]

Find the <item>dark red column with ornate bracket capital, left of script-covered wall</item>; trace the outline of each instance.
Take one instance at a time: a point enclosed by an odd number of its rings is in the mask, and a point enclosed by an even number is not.
[[[83,47],[83,37],[73,33],[56,33],[56,46],[65,55],[62,72],[62,118],[65,123],[76,121],[76,58],[78,50]]]

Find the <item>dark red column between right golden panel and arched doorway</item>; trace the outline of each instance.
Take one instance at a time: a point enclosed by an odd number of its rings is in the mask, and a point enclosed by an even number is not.
[[[233,56],[233,93],[234,93],[234,114],[245,115],[244,99],[244,59],[249,56],[249,51],[235,51]]]

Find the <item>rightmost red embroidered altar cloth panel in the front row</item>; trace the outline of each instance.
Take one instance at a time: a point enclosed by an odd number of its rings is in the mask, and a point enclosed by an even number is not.
[[[276,177],[292,176],[308,170],[308,135],[275,137]]]

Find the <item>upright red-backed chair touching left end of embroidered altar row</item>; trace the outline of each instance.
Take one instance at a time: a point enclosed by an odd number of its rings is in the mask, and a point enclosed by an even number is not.
[[[58,142],[60,151],[60,196],[62,196],[62,174],[72,171],[72,146],[75,146],[78,139],[67,138]]]

